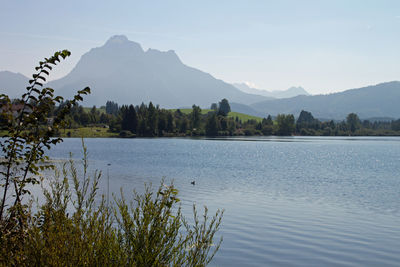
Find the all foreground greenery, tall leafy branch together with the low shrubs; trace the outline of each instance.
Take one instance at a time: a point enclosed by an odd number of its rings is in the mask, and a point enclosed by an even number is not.
[[[40,178],[41,171],[53,169],[45,152],[61,142],[51,138],[66,124],[66,117],[89,88],[78,91],[72,100],[43,88],[53,65],[70,55],[56,52],[36,67],[27,92],[11,101],[0,95],[0,120],[6,136],[0,139],[0,266],[205,266],[219,248],[214,235],[222,212],[209,221],[194,211],[190,226],[176,207],[177,190],[150,187],[134,193],[132,203],[124,196],[110,207],[104,197],[98,201],[101,173],[88,175],[84,147],[83,172],[70,160],[51,180]],[[52,111],[59,106],[56,116]],[[26,196],[41,184],[44,204]]]

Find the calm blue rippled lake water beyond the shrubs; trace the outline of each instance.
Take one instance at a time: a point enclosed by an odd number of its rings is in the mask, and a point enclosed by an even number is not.
[[[107,172],[110,191],[126,194],[165,177],[180,190],[186,216],[193,203],[225,209],[212,266],[400,265],[400,138],[85,143],[104,193]],[[50,156],[81,158],[81,150],[80,139],[65,139]]]

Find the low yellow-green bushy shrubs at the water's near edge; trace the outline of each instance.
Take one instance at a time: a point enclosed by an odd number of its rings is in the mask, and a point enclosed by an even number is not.
[[[85,153],[86,155],[86,153]],[[43,188],[45,203],[27,212],[21,235],[3,232],[0,263],[17,266],[206,266],[222,242],[213,244],[222,212],[194,225],[177,207],[178,191],[161,183],[153,191],[134,192],[127,203],[122,195],[111,208],[96,195],[100,173],[82,177],[70,160]]]

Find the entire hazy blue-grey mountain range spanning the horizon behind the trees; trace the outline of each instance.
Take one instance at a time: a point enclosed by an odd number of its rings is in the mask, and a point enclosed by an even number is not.
[[[27,85],[28,78],[22,74],[0,72],[0,93],[15,98]],[[152,101],[166,108],[190,107],[192,104],[208,108],[211,103],[227,98],[233,111],[263,117],[280,113],[298,116],[301,110],[306,110],[320,119],[344,119],[351,112],[361,118],[400,118],[398,81],[329,95],[274,99],[266,96],[273,92],[241,86],[242,90],[252,94],[245,93],[210,74],[188,67],[172,50],[143,51],[138,43],[125,36],[114,36],[105,45],[91,49],[67,76],[47,85],[67,97],[90,86],[92,94],[85,98],[85,106],[100,106],[112,100],[119,104]],[[307,94],[301,87],[280,93],[275,97]]]

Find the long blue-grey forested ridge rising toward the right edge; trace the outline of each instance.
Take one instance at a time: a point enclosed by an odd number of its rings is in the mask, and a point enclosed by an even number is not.
[[[306,110],[316,118],[338,120],[352,112],[360,118],[400,118],[399,99],[400,82],[393,81],[328,95],[262,101],[250,107],[271,115],[285,113],[298,116],[301,110]]]

